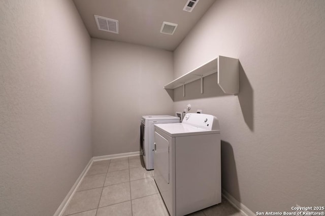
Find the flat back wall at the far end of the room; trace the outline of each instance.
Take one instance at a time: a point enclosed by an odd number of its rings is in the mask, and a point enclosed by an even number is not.
[[[91,58],[93,155],[139,151],[141,116],[173,115],[172,52],[91,39]]]

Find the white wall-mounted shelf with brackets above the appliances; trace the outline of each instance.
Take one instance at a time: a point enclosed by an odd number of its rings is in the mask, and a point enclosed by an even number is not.
[[[206,64],[178,77],[166,84],[164,89],[176,89],[183,85],[185,97],[185,84],[201,78],[201,94],[203,94],[203,77],[218,73],[218,84],[226,94],[238,94],[239,92],[239,60],[224,56],[218,56]]]

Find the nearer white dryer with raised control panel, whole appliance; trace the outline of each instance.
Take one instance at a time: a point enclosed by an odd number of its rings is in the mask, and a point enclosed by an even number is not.
[[[187,113],[155,124],[154,180],[171,216],[221,202],[220,128],[213,115]]]

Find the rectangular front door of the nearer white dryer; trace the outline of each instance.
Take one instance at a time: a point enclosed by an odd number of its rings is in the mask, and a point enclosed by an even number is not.
[[[162,184],[169,184],[169,142],[157,132],[154,133],[154,140],[154,175],[159,181],[164,181]]]

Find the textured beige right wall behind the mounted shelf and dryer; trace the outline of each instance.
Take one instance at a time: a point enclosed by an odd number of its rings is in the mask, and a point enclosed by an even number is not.
[[[220,120],[222,188],[253,212],[325,199],[325,1],[220,0],[174,53],[178,77],[217,55],[239,58],[240,92],[216,76],[174,92],[174,110]]]

